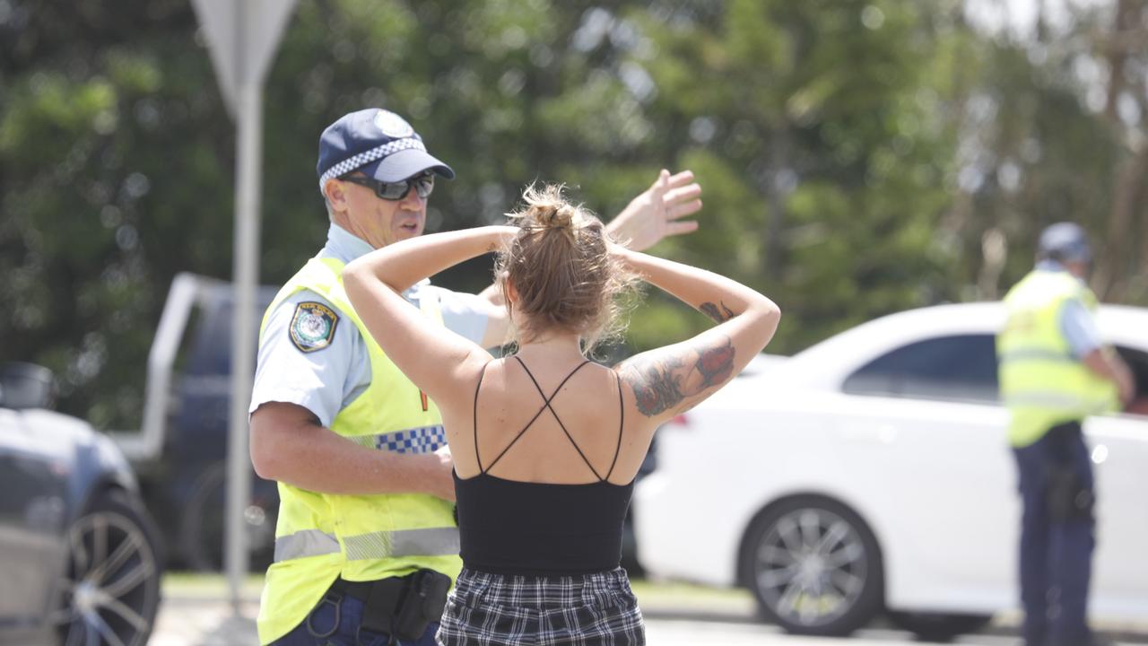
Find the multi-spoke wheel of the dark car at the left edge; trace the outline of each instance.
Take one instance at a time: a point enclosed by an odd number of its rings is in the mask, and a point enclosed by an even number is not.
[[[68,531],[68,566],[49,620],[60,644],[147,644],[163,574],[156,530],[121,491],[98,494]]]

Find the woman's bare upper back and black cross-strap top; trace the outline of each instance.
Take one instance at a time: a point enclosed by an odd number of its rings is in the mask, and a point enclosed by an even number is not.
[[[463,562],[520,576],[612,570],[636,472],[618,469],[634,445],[621,383],[588,361],[565,375],[536,363],[538,376],[518,356],[491,361],[475,389],[478,452],[456,475]],[[456,471],[465,462],[456,455]]]

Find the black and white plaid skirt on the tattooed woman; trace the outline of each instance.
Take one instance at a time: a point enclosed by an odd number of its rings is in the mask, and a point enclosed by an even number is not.
[[[447,599],[440,646],[642,646],[626,570],[503,576],[464,569]]]

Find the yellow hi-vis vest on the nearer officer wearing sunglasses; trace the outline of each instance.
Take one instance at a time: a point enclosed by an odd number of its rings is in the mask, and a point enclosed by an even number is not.
[[[261,341],[271,312],[292,294],[311,290],[358,328],[371,357],[371,385],[339,412],[331,430],[385,449],[387,433],[441,426],[439,408],[387,359],[355,313],[343,291],[342,268],[334,259],[308,262],[267,307]],[[420,305],[442,323],[434,299],[422,298]],[[339,576],[375,580],[428,568],[455,578],[463,567],[453,505],[433,495],[339,495],[279,483],[279,500],[274,563],[259,605],[261,644],[298,625]]]

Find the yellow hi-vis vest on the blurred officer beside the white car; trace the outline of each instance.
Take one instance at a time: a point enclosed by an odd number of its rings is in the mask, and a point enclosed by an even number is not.
[[[1013,446],[1029,446],[1056,424],[1116,409],[1116,386],[1073,356],[1061,332],[1061,306],[1072,298],[1095,312],[1096,297],[1078,278],[1042,270],[1004,297],[1008,321],[996,337],[996,355]]]

